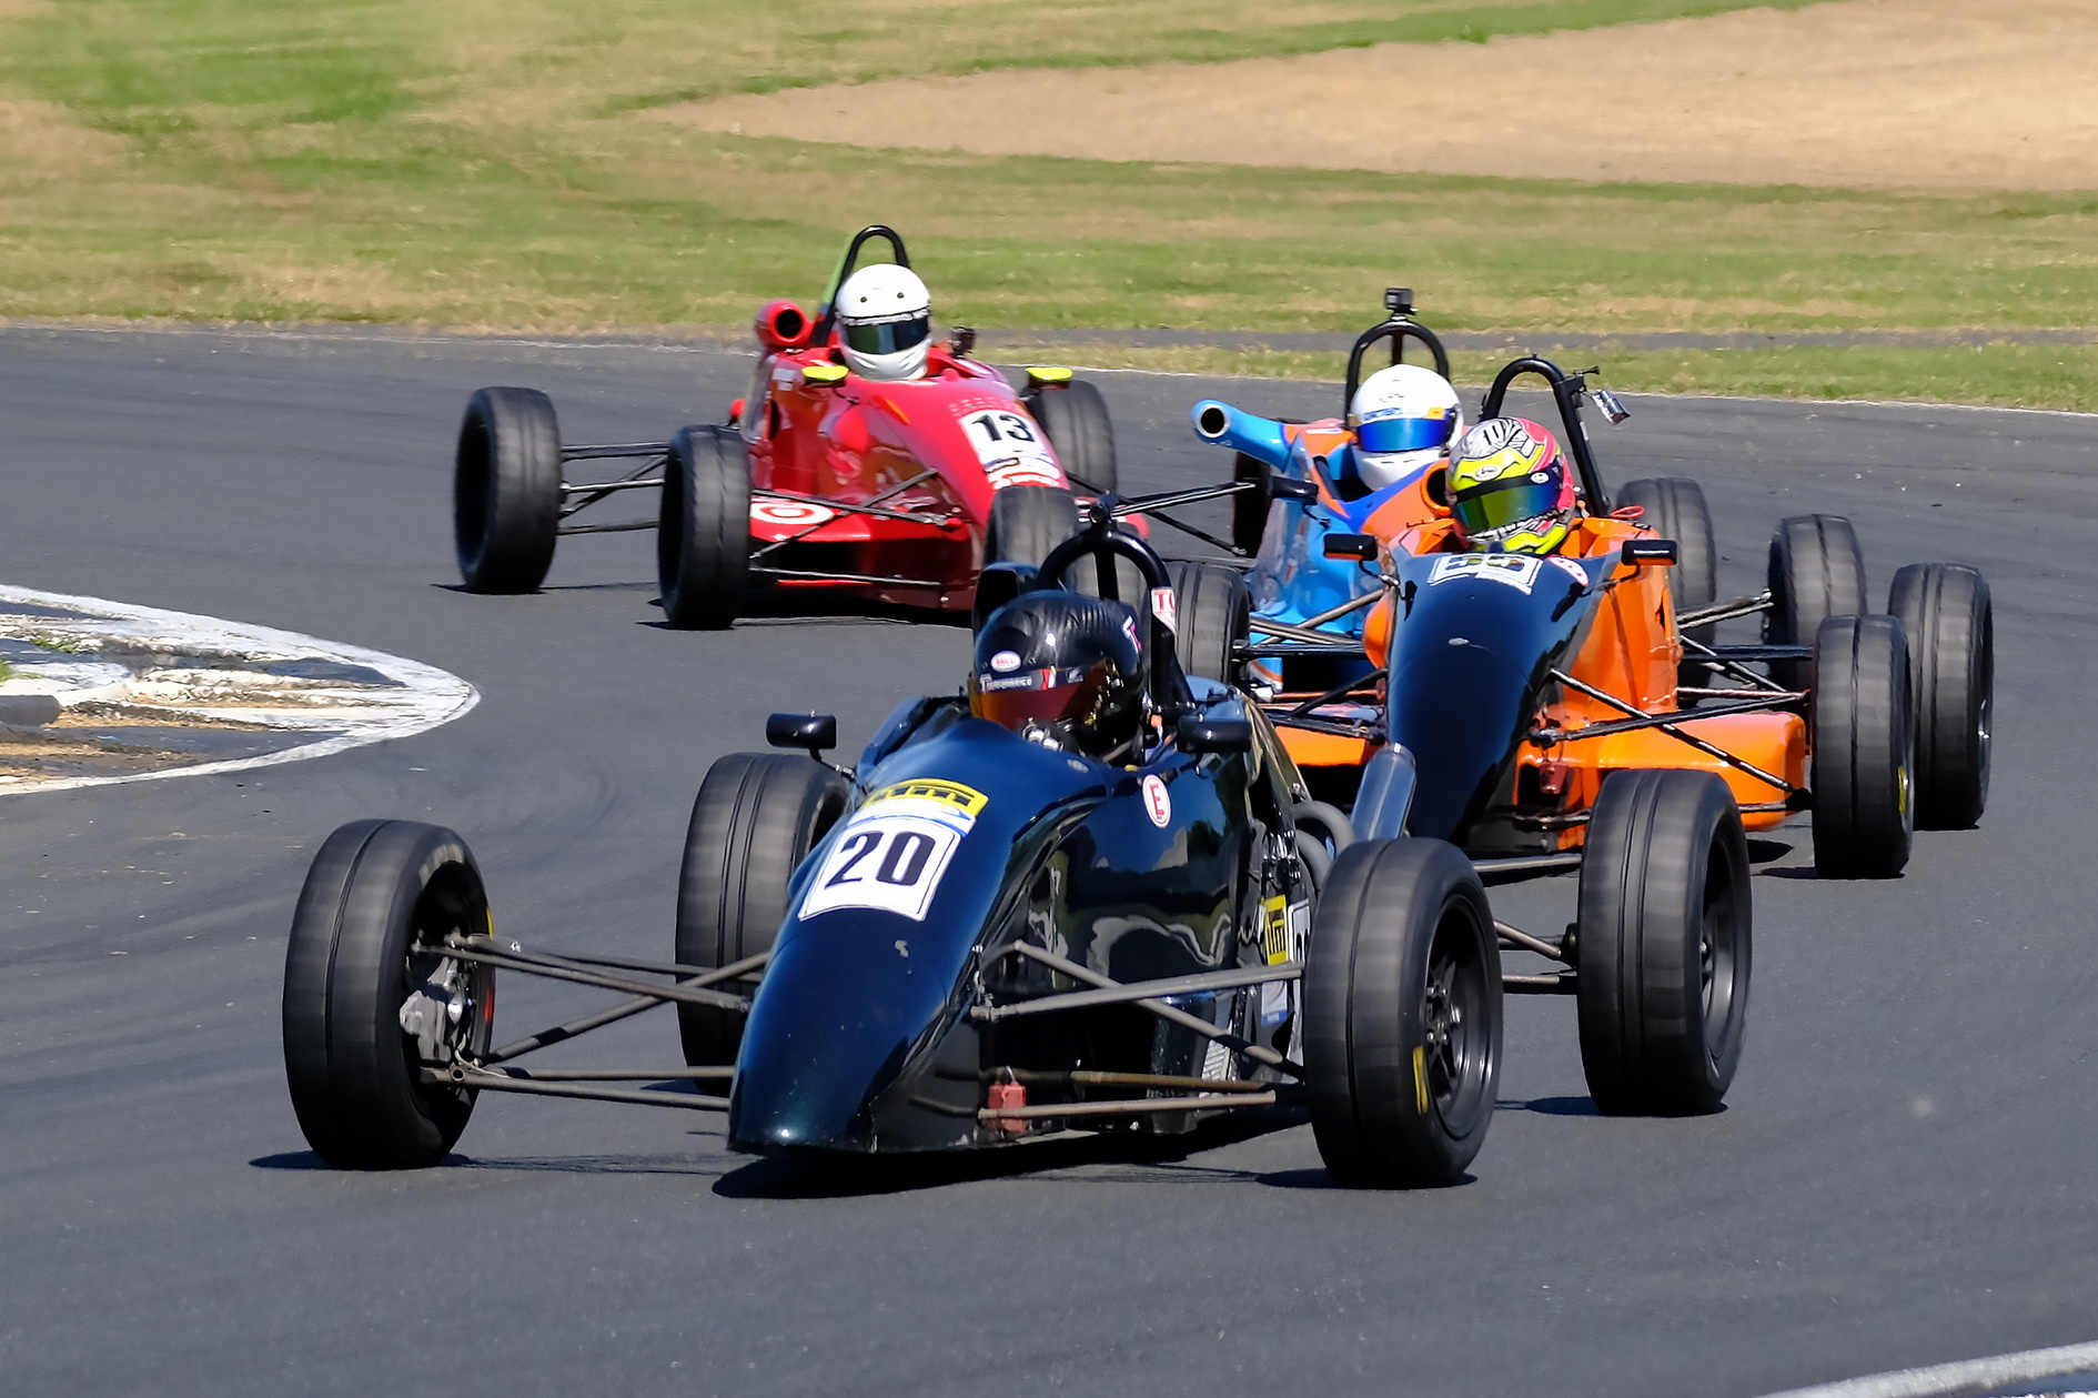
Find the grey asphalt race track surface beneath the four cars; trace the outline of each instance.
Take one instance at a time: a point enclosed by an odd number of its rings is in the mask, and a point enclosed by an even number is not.
[[[1590,1113],[1565,1001],[1511,1003],[1475,1180],[1328,1188],[1307,1127],[1156,1157],[1045,1148],[808,1173],[705,1117],[483,1098],[445,1167],[352,1175],[283,1089],[283,932],[342,821],[449,823],[527,945],[659,957],[707,764],[774,707],[848,747],[967,636],[892,617],[655,626],[646,535],[539,596],[455,592],[449,439],[478,384],[569,439],[715,420],[751,361],[663,348],[0,336],[0,575],[453,670],[432,733],[0,806],[0,1388],[10,1394],[1712,1394],[2098,1337],[2090,856],[2098,422],[1634,403],[1613,481],[1697,476],[1722,586],[1783,514],[1846,512],[1997,600],[1995,798],[1905,877],[1760,846],[1756,984],[1718,1117]],[[1135,487],[1213,479],[1223,390],[1101,376]],[[1496,911],[1550,928],[1571,888]],[[506,982],[510,1031],[596,1003]],[[583,1041],[676,1062],[669,1012]]]

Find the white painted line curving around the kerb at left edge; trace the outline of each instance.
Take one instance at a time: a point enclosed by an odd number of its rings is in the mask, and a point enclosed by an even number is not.
[[[99,596],[71,596],[65,592],[38,592],[34,588],[0,586],[0,611],[6,602],[27,602],[31,607],[57,607],[88,613],[113,626],[103,628],[126,638],[166,640],[170,651],[193,651],[208,655],[243,655],[262,661],[323,659],[344,665],[367,665],[401,684],[399,691],[380,691],[369,712],[344,712],[346,716],[329,726],[344,726],[340,733],[317,743],[287,747],[283,751],[254,758],[227,758],[222,762],[197,762],[193,766],[172,766],[153,772],[124,772],[117,777],[71,777],[65,781],[23,783],[21,787],[0,787],[0,796],[34,796],[38,791],[67,791],[71,787],[107,787],[120,781],[159,781],[164,777],[201,777],[206,772],[237,772],[252,766],[277,766],[283,762],[304,762],[325,758],[367,743],[426,733],[438,724],[449,724],[480,703],[480,693],[455,674],[424,665],[420,661],[346,647],[338,640],[302,636],[300,632],[279,632],[269,626],[248,626],[220,617],[199,617],[187,611],[162,611],[157,607],[134,607],[111,602]],[[82,623],[67,623],[76,628]],[[300,724],[285,724],[300,726]]]

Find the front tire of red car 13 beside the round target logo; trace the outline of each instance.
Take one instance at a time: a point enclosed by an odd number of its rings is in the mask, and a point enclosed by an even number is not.
[[[663,621],[722,630],[751,575],[751,458],[726,426],[686,426],[669,443],[657,518]]]

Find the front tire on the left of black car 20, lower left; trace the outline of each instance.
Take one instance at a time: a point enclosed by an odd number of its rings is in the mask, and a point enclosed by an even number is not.
[[[436,1165],[474,1089],[422,1071],[489,1050],[495,972],[432,945],[489,936],[466,842],[415,821],[355,821],[313,856],[283,961],[283,1073],[315,1155],[338,1169]]]

